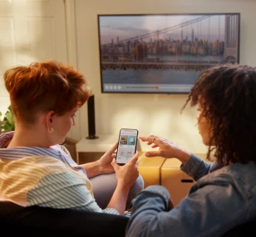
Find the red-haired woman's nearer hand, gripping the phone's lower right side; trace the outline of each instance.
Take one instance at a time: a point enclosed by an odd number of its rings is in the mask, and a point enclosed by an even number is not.
[[[124,166],[118,165],[115,158],[112,160],[111,165],[116,172],[116,179],[122,186],[130,188],[135,184],[135,181],[139,177],[138,158],[139,155],[136,152]]]

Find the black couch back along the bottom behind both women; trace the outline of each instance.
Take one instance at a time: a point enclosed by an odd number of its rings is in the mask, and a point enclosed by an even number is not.
[[[128,218],[121,215],[47,207],[22,207],[0,201],[1,236],[125,236]],[[256,221],[229,230],[223,237],[255,236]],[[216,236],[214,236],[216,237]]]

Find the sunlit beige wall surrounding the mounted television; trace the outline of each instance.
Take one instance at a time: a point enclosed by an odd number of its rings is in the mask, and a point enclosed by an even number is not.
[[[196,109],[188,107],[180,114],[186,94],[101,94],[97,14],[241,12],[240,63],[256,65],[256,1],[76,0],[75,3],[77,66],[96,96],[96,133],[117,136],[120,128],[137,128],[140,135],[160,135],[190,152],[205,152],[196,127]],[[72,135],[87,136],[86,105],[81,108]]]

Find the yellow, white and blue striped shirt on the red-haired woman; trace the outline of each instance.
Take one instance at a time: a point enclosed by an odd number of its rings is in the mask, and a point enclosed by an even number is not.
[[[113,208],[102,210],[96,204],[86,171],[65,147],[7,148],[13,134],[0,135],[0,201],[119,215]]]

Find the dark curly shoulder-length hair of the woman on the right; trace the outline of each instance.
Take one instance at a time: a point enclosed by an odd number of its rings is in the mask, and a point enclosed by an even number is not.
[[[221,165],[256,162],[256,68],[219,65],[205,70],[195,82],[182,110],[200,104],[209,119],[213,150]]]

